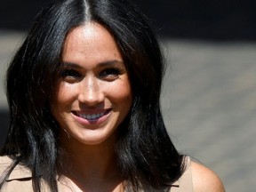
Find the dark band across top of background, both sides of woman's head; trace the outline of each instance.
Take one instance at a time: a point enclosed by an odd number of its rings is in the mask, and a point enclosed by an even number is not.
[[[1,0],[0,28],[27,30],[50,0]],[[132,0],[171,38],[256,41],[256,1]]]

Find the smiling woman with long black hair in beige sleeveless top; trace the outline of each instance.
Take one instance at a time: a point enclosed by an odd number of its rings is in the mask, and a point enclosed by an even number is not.
[[[224,191],[174,148],[159,107],[163,73],[132,4],[50,4],[7,72],[1,191]]]

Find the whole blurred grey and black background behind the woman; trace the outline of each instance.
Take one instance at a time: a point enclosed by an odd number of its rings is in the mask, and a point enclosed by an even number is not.
[[[9,124],[5,70],[48,2],[1,0],[0,145]],[[255,191],[256,2],[133,2],[163,47],[162,108],[174,144],[217,172],[227,191]]]

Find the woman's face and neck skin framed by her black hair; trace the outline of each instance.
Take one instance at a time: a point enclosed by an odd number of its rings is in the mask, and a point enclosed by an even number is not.
[[[52,100],[65,149],[60,156],[62,181],[72,191],[120,191],[123,178],[114,144],[132,105],[121,53],[108,30],[91,22],[69,32],[62,61]]]

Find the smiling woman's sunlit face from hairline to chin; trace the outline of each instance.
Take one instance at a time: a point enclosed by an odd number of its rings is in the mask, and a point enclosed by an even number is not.
[[[114,38],[97,23],[74,28],[62,53],[52,115],[60,140],[96,145],[116,138],[132,105],[131,84]]]

